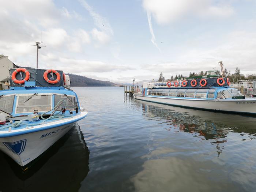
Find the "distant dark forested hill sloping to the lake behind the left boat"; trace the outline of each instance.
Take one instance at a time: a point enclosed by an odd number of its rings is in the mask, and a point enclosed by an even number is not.
[[[104,87],[104,86],[118,86],[116,83],[110,81],[101,81],[87,78],[81,75],[67,74],[71,81],[71,87]]]

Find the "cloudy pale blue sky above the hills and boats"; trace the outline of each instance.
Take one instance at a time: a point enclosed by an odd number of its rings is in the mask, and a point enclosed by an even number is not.
[[[0,0],[0,54],[112,82],[256,73],[256,0]]]

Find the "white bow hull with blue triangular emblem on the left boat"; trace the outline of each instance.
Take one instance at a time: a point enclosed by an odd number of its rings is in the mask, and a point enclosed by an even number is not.
[[[0,134],[0,150],[20,166],[25,166],[65,135],[75,125],[76,121],[86,116],[87,112],[82,112],[73,118],[61,119],[24,129],[2,131]]]

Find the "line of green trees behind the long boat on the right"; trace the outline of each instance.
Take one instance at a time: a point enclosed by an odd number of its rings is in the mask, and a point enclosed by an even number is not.
[[[223,73],[224,73],[224,76],[226,78],[229,78],[229,80],[232,83],[238,83],[239,80],[256,79],[256,75],[255,74],[251,74],[251,75],[248,75],[248,76],[245,76],[245,75],[241,74],[240,68],[238,68],[238,67],[236,67],[234,74],[231,74],[231,72],[227,71],[226,68],[224,69]],[[221,72],[219,70],[217,71],[217,74],[221,76]],[[202,76],[202,75],[207,75],[207,71],[206,72],[201,71],[199,73],[190,72],[188,77],[191,78],[191,77]],[[173,77],[173,75],[172,75],[170,79],[165,79],[165,77],[163,76],[163,73],[161,72],[160,75],[159,75],[158,81],[159,82],[173,81],[173,80],[180,79],[182,77],[184,77],[184,76],[182,76],[182,74],[178,74],[178,75],[176,74],[175,77]]]

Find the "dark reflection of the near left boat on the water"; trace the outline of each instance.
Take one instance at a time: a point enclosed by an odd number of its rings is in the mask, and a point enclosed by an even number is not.
[[[78,191],[89,172],[89,150],[76,124],[26,172],[0,153],[0,191]]]

